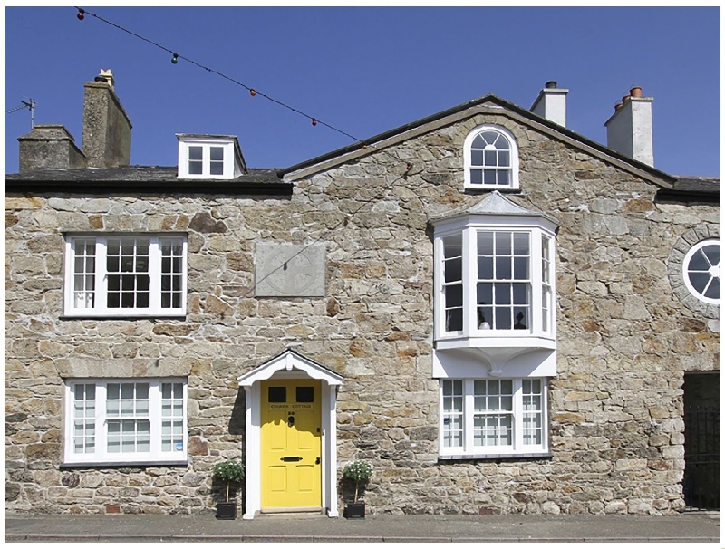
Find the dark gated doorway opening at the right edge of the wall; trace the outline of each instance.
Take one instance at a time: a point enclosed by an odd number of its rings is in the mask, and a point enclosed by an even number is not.
[[[688,510],[720,510],[720,371],[685,373],[685,476]]]

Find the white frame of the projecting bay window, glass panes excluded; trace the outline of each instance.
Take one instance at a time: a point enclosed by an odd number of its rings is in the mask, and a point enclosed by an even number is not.
[[[478,232],[526,233],[529,237],[528,292],[530,327],[525,330],[488,329],[478,323]],[[462,236],[463,273],[463,326],[462,330],[446,329],[446,297],[444,273],[444,243],[449,236]],[[435,235],[435,339],[438,348],[469,347],[547,347],[553,348],[556,340],[555,315],[555,249],[553,230],[536,222],[536,218],[511,223],[509,219],[498,221],[494,217],[471,216],[463,222],[441,227]],[[543,248],[546,247],[547,254]],[[547,257],[545,257],[547,255]],[[544,265],[548,276],[544,275]],[[546,291],[545,291],[546,288]],[[472,304],[472,305],[471,305]],[[546,320],[544,314],[546,313]],[[449,342],[449,345],[447,345]]]

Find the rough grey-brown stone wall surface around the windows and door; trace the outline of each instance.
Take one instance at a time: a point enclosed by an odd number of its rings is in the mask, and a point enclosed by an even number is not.
[[[484,122],[517,138],[511,198],[561,222],[551,459],[438,460],[427,219],[480,198],[463,192],[462,145]],[[300,178],[291,200],[6,197],[5,508],[213,512],[211,467],[243,448],[236,378],[293,347],[344,376],[339,467],[372,461],[369,513],[677,512],[683,375],[720,368],[720,337],[673,294],[667,262],[686,231],[719,230],[720,212],[653,204],[655,190],[477,115]],[[63,232],[99,230],[188,231],[185,320],[59,318]],[[324,243],[325,296],[255,297],[260,242]],[[63,376],[115,368],[189,376],[189,467],[59,469]]]

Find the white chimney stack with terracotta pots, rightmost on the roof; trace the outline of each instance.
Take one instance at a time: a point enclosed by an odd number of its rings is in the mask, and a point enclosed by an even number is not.
[[[629,95],[616,104],[614,114],[604,123],[607,147],[652,167],[653,100],[653,97],[642,97],[642,88],[634,86]]]

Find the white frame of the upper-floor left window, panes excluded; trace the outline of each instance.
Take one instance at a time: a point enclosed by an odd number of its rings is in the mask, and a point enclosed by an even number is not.
[[[108,242],[111,239],[148,239],[149,241],[149,306],[148,307],[108,307],[109,294],[109,271],[107,264]],[[92,276],[86,277],[86,291],[93,294],[92,306],[79,306],[76,300],[76,248],[82,241],[93,240],[95,242],[95,254],[93,259],[86,265],[91,265]],[[179,241],[182,245],[181,272],[162,273],[162,252],[161,244],[167,240]],[[65,236],[65,291],[64,309],[66,316],[78,317],[169,317],[185,316],[187,310],[187,278],[188,278],[188,237],[178,233],[163,234],[112,234],[112,233],[90,233],[73,234]],[[80,249],[79,249],[80,253]],[[111,272],[115,274],[116,272]],[[163,307],[161,301],[162,275],[180,275],[179,306]],[[90,299],[88,300],[90,301]]]

